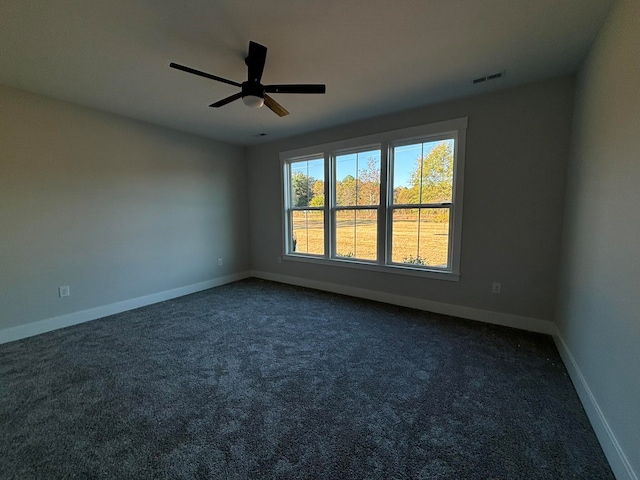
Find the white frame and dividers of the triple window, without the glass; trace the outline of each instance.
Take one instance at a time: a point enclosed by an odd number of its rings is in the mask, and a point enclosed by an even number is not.
[[[283,242],[282,258],[287,261],[308,262],[346,268],[397,273],[427,278],[457,281],[460,278],[460,252],[462,244],[462,207],[464,188],[464,164],[467,117],[442,122],[419,125],[401,130],[381,132],[374,135],[352,138],[337,142],[315,145],[280,153],[282,180]],[[407,205],[411,208],[447,208],[449,210],[449,249],[447,268],[417,266],[393,263],[391,261],[391,228],[393,210],[401,208],[393,205],[393,147],[412,143],[429,142],[438,139],[454,141],[453,195],[451,203]],[[380,149],[380,205],[378,206],[378,255],[377,260],[358,260],[338,257],[335,252],[335,212],[341,207],[335,205],[335,157],[345,152]],[[290,164],[296,161],[324,158],[324,255],[301,254],[291,251]]]

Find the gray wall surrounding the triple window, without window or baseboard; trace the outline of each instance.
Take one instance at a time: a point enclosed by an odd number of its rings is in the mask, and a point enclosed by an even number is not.
[[[447,102],[248,149],[253,270],[552,320],[573,77]],[[362,272],[282,254],[282,150],[467,116],[459,282]],[[491,293],[491,282],[502,293]]]

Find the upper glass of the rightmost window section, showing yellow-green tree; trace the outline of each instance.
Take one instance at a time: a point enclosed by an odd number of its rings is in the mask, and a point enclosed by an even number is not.
[[[393,203],[451,202],[454,139],[393,149]]]

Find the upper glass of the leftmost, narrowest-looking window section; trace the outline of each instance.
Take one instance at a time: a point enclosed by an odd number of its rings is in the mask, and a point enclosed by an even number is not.
[[[292,207],[324,206],[324,159],[291,162]]]

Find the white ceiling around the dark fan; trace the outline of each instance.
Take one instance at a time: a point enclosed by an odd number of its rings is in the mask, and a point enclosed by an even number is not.
[[[252,145],[575,71],[612,0],[2,0],[0,83],[207,137]],[[325,83],[272,96],[169,68],[263,83]],[[505,70],[503,79],[473,85]],[[266,137],[257,134],[267,133]]]

